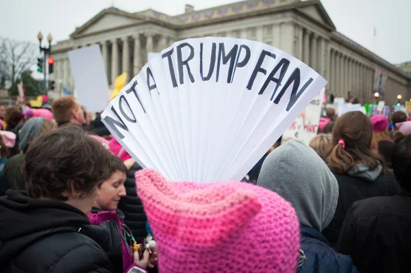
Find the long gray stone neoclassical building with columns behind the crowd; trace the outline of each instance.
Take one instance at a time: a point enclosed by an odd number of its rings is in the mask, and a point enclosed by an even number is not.
[[[59,89],[73,90],[67,52],[99,44],[109,84],[123,72],[131,79],[148,53],[204,36],[247,38],[282,49],[323,75],[329,81],[327,94],[347,97],[350,92],[369,103],[373,90],[382,86],[390,105],[397,103],[398,94],[411,98],[411,78],[336,31],[319,0],[249,0],[206,10],[186,5],[186,12],[177,16],[107,8],[75,29],[69,40],[53,45],[51,77]]]

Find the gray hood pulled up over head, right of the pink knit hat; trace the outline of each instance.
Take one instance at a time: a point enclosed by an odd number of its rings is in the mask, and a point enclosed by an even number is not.
[[[323,159],[299,140],[289,140],[270,153],[257,185],[288,200],[300,224],[317,231],[328,226],[336,211],[337,179]]]

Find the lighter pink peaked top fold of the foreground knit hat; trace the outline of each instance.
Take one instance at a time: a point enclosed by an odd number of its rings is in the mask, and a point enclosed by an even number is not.
[[[166,181],[154,170],[136,172],[142,199],[153,230],[181,244],[215,246],[236,233],[260,211],[258,196],[229,183],[184,190],[184,182]],[[173,187],[178,183],[178,187]]]

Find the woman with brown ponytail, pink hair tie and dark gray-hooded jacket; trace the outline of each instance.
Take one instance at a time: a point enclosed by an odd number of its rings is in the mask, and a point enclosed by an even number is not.
[[[338,181],[340,195],[334,218],[323,231],[332,246],[336,246],[347,211],[354,202],[399,192],[384,159],[371,151],[372,139],[373,125],[362,112],[348,112],[336,120],[327,161]]]

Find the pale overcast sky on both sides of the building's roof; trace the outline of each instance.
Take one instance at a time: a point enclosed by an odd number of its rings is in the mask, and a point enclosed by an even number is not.
[[[38,42],[38,31],[54,42],[69,38],[92,16],[114,4],[127,12],[152,8],[175,15],[184,4],[196,10],[233,3],[232,0],[0,0],[0,36]],[[411,61],[411,0],[322,0],[341,33],[392,63]],[[373,29],[377,29],[377,37]]]

